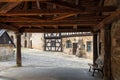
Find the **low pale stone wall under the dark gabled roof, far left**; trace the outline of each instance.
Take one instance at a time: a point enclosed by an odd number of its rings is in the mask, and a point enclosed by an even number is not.
[[[0,44],[0,61],[10,60],[14,57],[14,47],[10,44]]]

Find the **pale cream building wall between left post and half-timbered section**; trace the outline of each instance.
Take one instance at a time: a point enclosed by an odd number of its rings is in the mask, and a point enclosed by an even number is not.
[[[8,31],[8,34],[10,37],[13,36],[13,42],[16,45],[15,33]],[[44,50],[44,33],[23,33],[21,35],[21,47]]]

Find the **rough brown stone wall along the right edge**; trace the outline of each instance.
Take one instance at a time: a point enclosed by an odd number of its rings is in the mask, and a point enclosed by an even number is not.
[[[112,74],[114,80],[120,80],[120,20],[112,24]]]

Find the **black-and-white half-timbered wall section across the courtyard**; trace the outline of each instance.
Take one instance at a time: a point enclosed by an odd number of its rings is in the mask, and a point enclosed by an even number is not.
[[[45,51],[62,52],[61,33],[45,33]]]

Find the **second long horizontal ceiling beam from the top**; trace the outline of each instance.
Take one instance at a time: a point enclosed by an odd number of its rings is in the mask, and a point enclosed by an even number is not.
[[[43,20],[37,18],[28,18],[28,17],[6,17],[0,18],[0,22],[82,22],[82,21],[101,21],[106,16],[90,16],[90,17],[77,17],[77,18],[68,18],[62,20]]]

